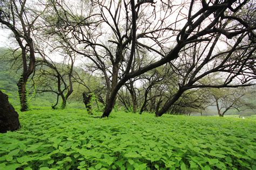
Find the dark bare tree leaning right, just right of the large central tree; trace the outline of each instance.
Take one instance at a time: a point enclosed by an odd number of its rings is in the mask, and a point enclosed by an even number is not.
[[[188,89],[205,87],[235,88],[252,85],[248,84],[248,82],[255,79],[255,75],[246,65],[254,60],[254,44],[250,41],[248,44],[242,43],[241,40],[245,34],[241,34],[237,42],[229,44],[230,48],[213,54],[213,49],[217,44],[219,36],[214,39],[210,48],[207,48],[207,46],[211,41],[208,42],[201,52],[197,51],[197,45],[194,45],[193,52],[190,51],[191,48],[188,48],[188,52],[184,50],[180,58],[173,60],[173,70],[181,76],[179,90],[169,101],[165,102],[157,116],[163,115]],[[191,53],[194,55],[191,55]],[[212,79],[215,73],[219,73],[218,79],[222,79],[222,82],[217,81],[216,78],[215,80]]]

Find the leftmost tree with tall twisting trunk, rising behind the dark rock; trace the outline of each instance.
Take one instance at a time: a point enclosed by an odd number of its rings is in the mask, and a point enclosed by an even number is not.
[[[17,82],[19,100],[21,103],[21,111],[28,110],[26,101],[26,83],[29,76],[35,70],[35,48],[33,41],[33,30],[37,19],[42,13],[37,13],[30,9],[30,5],[26,1],[4,1],[0,8],[0,23],[4,29],[9,29],[14,34],[14,38],[21,48],[21,55],[18,56],[22,60],[22,75]]]

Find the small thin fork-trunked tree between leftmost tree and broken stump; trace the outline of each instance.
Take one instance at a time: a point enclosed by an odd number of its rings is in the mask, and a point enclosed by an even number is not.
[[[62,98],[61,108],[65,109],[66,101],[73,92],[73,67],[76,61],[76,54],[70,51],[61,51],[64,55],[63,63],[53,62],[43,51],[38,49],[41,59],[37,63],[40,67],[36,70],[34,79],[39,86],[36,86],[37,93],[55,93],[57,101],[52,105],[56,109],[59,96]],[[67,61],[67,62],[65,62]]]

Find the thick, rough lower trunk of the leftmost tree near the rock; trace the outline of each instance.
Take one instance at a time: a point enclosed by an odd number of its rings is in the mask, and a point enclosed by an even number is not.
[[[28,102],[26,101],[26,82],[27,82],[27,79],[24,79],[24,76],[22,75],[21,78],[19,78],[19,81],[17,83],[19,101],[21,103],[21,111],[29,110]]]

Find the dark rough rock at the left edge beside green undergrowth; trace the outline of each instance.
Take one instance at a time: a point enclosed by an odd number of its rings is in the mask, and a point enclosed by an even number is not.
[[[0,90],[0,133],[20,128],[19,115],[9,103],[8,96]]]

